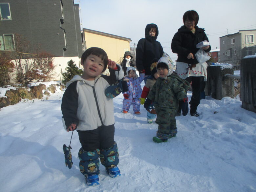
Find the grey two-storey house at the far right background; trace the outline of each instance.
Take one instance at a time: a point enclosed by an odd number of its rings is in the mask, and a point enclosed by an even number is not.
[[[220,62],[239,66],[242,58],[256,53],[256,30],[239,30],[220,37]]]

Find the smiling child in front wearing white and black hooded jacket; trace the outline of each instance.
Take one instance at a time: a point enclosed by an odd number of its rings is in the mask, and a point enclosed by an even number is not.
[[[87,185],[99,184],[99,159],[111,177],[120,175],[117,143],[114,141],[115,119],[113,99],[105,89],[123,78],[121,66],[108,59],[97,47],[87,49],[81,56],[82,76],[75,75],[66,86],[61,111],[64,128],[77,130],[82,147],[79,150],[80,172]],[[102,75],[108,69],[110,76]]]

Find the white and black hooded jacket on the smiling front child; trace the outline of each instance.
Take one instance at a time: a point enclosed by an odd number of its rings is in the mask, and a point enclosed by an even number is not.
[[[66,84],[67,89],[61,103],[65,129],[71,123],[76,123],[77,130],[80,131],[94,130],[101,125],[115,123],[113,99],[105,96],[105,89],[114,84],[117,78],[123,78],[120,65],[117,64],[117,68],[117,71],[109,69],[110,76],[99,75],[94,81],[75,75]]]

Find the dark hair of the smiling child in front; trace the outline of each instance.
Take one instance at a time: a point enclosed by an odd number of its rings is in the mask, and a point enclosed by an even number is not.
[[[101,58],[101,60],[104,63],[104,69],[102,71],[102,73],[106,70],[107,65],[108,65],[108,55],[107,53],[98,47],[91,47],[89,49],[87,49],[81,56],[81,65],[83,65],[84,61],[86,60],[86,58],[89,55],[96,55],[97,57]]]

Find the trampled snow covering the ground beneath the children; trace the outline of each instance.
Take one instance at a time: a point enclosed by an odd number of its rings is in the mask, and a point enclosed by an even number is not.
[[[79,171],[77,132],[71,142],[73,167],[65,166],[62,146],[69,144],[71,132],[61,122],[63,93],[1,109],[1,191],[256,191],[256,113],[241,108],[240,100],[206,96],[198,107],[200,117],[177,117],[177,136],[154,143],[158,125],[146,122],[142,106],[141,115],[132,107],[122,114],[123,96],[117,96],[115,140],[122,175],[110,178],[100,165],[100,185],[88,187]]]

